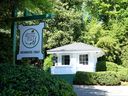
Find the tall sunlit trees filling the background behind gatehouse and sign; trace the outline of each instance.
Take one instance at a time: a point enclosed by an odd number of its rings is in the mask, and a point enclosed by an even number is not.
[[[2,0],[0,20],[11,17],[15,4],[18,16],[23,16],[24,9],[56,14],[45,20],[46,49],[80,41],[102,48],[107,61],[128,66],[128,0]],[[8,23],[0,27],[5,29]]]

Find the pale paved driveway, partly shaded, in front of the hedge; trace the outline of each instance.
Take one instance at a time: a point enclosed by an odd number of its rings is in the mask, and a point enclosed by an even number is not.
[[[128,86],[78,86],[74,85],[77,96],[128,96]]]

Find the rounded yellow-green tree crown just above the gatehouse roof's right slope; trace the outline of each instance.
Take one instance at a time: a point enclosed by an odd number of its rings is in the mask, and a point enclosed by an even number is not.
[[[103,29],[103,24],[96,19],[92,19],[86,24],[86,30],[83,31],[83,40],[85,43],[96,45],[96,43],[99,41],[99,38],[107,34]]]

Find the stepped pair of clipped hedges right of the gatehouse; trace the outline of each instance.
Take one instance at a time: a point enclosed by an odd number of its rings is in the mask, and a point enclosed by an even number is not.
[[[99,62],[97,71],[77,72],[74,84],[85,85],[118,85],[121,81],[128,82],[128,68],[112,62]]]

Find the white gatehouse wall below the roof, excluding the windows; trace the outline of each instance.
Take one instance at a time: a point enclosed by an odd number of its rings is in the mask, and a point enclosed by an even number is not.
[[[79,64],[79,55],[88,54],[88,65]],[[70,55],[70,65],[62,65],[62,55]],[[52,74],[75,74],[77,71],[95,72],[97,57],[95,52],[57,54],[58,63],[51,68]]]

